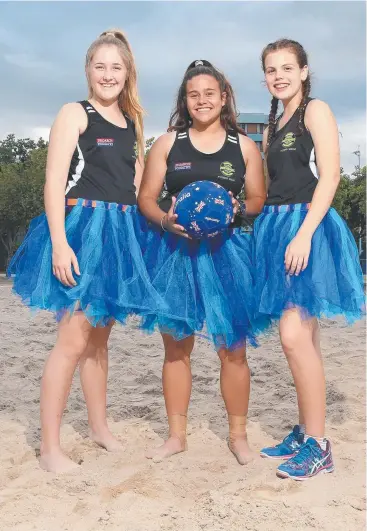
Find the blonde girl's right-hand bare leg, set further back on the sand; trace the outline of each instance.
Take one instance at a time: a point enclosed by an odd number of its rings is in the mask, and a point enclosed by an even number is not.
[[[113,323],[94,328],[79,362],[80,381],[87,403],[89,435],[93,441],[110,452],[122,449],[107,425],[108,338]]]

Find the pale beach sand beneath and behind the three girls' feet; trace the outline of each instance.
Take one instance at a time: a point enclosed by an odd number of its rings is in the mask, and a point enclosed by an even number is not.
[[[87,438],[75,375],[62,427],[63,446],[80,469],[41,470],[39,385],[55,341],[47,313],[30,316],[0,282],[1,531],[270,531],[365,529],[365,328],[321,323],[327,376],[327,434],[336,471],[308,482],[281,480],[277,463],[237,464],[226,446],[219,362],[204,340],[193,356],[189,451],[168,461],[144,458],[166,433],[162,345],[134,325],[110,340],[108,416],[125,445],[109,454]],[[296,400],[276,332],[248,353],[252,372],[249,437],[271,444],[295,423]]]

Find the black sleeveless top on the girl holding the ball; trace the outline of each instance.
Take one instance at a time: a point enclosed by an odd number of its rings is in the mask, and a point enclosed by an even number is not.
[[[167,158],[167,172],[159,206],[168,212],[171,197],[195,181],[220,184],[234,197],[245,182],[246,165],[242,156],[238,133],[229,131],[222,148],[216,153],[198,151],[190,140],[189,129],[176,133],[176,139]]]

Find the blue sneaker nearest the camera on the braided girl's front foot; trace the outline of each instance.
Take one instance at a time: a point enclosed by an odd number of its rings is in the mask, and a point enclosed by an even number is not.
[[[307,439],[294,457],[277,468],[277,476],[297,481],[303,481],[327,472],[334,472],[330,442],[327,441],[324,451],[312,437]]]

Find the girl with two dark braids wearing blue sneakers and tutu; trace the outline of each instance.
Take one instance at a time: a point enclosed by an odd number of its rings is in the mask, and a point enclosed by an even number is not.
[[[338,128],[329,106],[309,96],[307,54],[282,39],[268,44],[261,59],[273,98],[264,132],[268,194],[254,227],[255,295],[260,314],[279,320],[299,409],[293,431],[261,455],[286,460],[279,476],[304,480],[334,470],[324,437],[317,318],[361,318],[363,277],[353,236],[331,207],[340,179]]]

